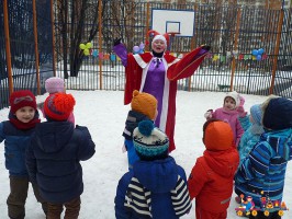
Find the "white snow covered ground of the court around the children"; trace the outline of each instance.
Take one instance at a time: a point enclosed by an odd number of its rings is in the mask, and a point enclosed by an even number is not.
[[[126,154],[122,153],[124,123],[130,106],[123,105],[122,91],[67,91],[76,97],[75,117],[78,125],[87,126],[97,146],[96,154],[82,162],[85,193],[81,196],[80,219],[114,219],[114,196],[121,176],[127,171]],[[176,145],[171,153],[177,163],[190,174],[195,159],[202,155],[202,126],[204,112],[221,107],[223,92],[184,92],[177,96]],[[44,101],[47,94],[37,96]],[[245,108],[262,103],[267,96],[245,95]],[[8,117],[9,108],[0,111],[0,122]],[[4,146],[0,143],[0,218],[7,216],[7,196],[9,175],[4,168]],[[292,206],[292,162],[288,164],[283,200]],[[290,194],[290,195],[289,195]],[[194,203],[193,203],[194,206]],[[237,218],[234,198],[228,208],[228,219]],[[283,219],[292,218],[291,211],[284,211]],[[26,203],[27,219],[45,219],[41,205],[36,203],[30,188]],[[194,218],[194,207],[183,219]]]

